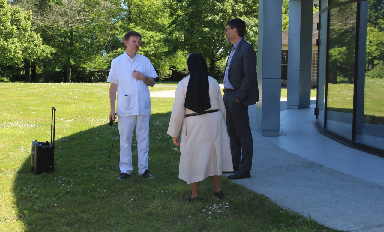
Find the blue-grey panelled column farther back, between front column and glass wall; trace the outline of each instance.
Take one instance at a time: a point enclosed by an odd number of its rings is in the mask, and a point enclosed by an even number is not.
[[[300,109],[311,103],[313,0],[289,1],[287,105]]]

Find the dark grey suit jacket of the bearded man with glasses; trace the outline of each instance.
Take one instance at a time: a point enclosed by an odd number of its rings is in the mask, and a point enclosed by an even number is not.
[[[255,48],[242,39],[233,54],[228,79],[235,88],[235,98],[245,106],[256,104],[259,98]]]

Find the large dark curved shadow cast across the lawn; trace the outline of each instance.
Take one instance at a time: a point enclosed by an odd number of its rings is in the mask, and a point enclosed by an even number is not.
[[[152,114],[149,169],[137,175],[134,136],[129,179],[120,181],[118,128],[103,124],[55,143],[55,172],[35,175],[26,159],[13,193],[26,231],[332,231],[281,209],[267,197],[222,177],[224,200],[210,178],[200,185],[201,201],[185,201],[190,188],[178,178],[180,152],[166,134],[170,112]],[[57,128],[56,128],[57,130]],[[109,152],[111,155],[109,156]],[[108,164],[111,166],[109,166]]]

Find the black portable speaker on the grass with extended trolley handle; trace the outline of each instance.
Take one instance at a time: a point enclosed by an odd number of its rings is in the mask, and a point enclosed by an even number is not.
[[[55,171],[55,118],[56,109],[52,106],[51,143],[32,141],[31,170],[35,174]]]

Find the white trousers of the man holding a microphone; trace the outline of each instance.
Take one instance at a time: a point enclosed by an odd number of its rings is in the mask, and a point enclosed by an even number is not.
[[[120,171],[131,175],[132,167],[132,135],[136,126],[137,165],[139,175],[148,169],[149,151],[149,114],[118,115],[120,133]]]

